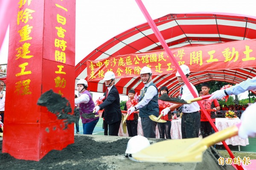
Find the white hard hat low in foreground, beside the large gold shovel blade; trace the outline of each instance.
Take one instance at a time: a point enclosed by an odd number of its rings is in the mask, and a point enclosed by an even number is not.
[[[150,146],[148,139],[145,138],[144,136],[137,135],[130,138],[130,140],[128,141],[125,153],[128,155],[137,153],[148,146]]]

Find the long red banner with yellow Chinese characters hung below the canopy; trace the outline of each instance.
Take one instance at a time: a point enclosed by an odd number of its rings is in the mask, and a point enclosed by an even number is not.
[[[179,65],[186,64],[191,72],[236,69],[256,66],[256,39],[172,49]],[[134,53],[87,61],[87,81],[99,81],[105,72],[117,78],[137,77],[143,66],[151,67],[153,75],[176,73],[165,50]]]

